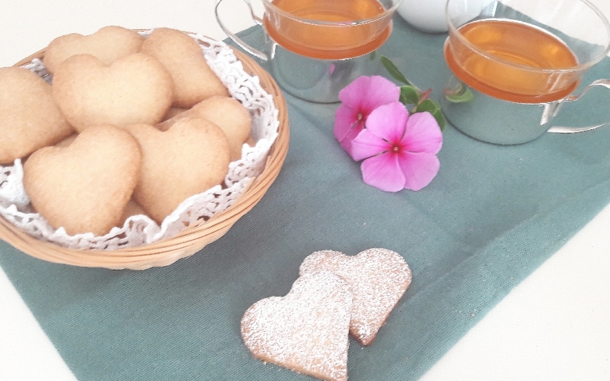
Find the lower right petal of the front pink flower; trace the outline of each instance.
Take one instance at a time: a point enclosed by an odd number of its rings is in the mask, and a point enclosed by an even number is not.
[[[438,157],[432,153],[403,153],[397,162],[404,174],[404,188],[411,190],[430,184],[440,169]]]

